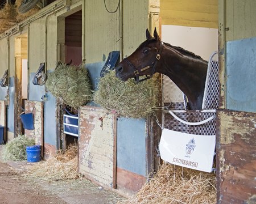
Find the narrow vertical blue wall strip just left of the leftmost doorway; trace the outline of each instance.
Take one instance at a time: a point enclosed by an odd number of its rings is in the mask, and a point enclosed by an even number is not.
[[[14,133],[14,77],[10,77],[9,85],[10,101],[7,109],[7,128],[8,131]]]

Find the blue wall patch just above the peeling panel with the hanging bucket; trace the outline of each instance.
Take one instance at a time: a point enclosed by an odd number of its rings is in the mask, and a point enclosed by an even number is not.
[[[32,101],[42,101],[42,96],[45,94],[45,85],[34,85],[32,83],[34,76],[35,73],[30,73],[30,91],[28,99]]]

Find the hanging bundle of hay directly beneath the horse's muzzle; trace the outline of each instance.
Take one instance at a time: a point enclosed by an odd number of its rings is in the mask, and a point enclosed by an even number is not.
[[[119,116],[142,118],[154,112],[159,97],[159,82],[148,79],[138,84],[134,79],[122,82],[110,71],[98,83],[94,101]]]

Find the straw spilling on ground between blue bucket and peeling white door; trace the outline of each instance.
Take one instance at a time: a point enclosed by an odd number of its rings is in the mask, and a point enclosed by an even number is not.
[[[77,146],[70,146],[64,153],[50,155],[46,161],[27,167],[24,177],[31,180],[74,180],[80,177],[77,172]]]

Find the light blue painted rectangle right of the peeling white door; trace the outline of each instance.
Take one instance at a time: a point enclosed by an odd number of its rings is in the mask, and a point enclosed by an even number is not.
[[[146,176],[146,120],[118,118],[117,167]]]

